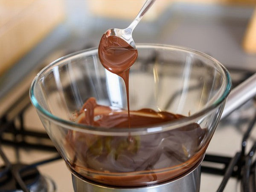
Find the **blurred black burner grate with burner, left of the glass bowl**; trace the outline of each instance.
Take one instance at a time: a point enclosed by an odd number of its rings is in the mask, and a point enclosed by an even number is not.
[[[51,189],[50,191],[56,189],[54,181],[41,175],[37,166],[61,159],[61,156],[56,152],[45,132],[28,131],[24,127],[23,115],[31,105],[28,93],[27,90],[0,118],[0,157],[4,162],[0,167],[1,192],[48,192],[49,189]],[[27,139],[28,137],[34,138],[34,141]],[[42,138],[48,140],[47,144],[36,142]],[[2,150],[3,144],[13,146],[16,154],[18,154],[19,149],[24,148],[54,151],[56,155],[29,165],[11,163]]]

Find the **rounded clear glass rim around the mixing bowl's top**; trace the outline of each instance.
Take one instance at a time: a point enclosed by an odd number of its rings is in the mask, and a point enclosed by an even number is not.
[[[84,125],[81,123],[76,123],[73,121],[69,121],[69,120],[64,120],[60,117],[57,117],[55,115],[52,115],[49,111],[47,111],[46,109],[44,109],[42,106],[39,105],[38,100],[36,99],[35,95],[34,95],[34,88],[36,83],[38,82],[38,78],[40,77],[41,74],[43,74],[44,72],[46,72],[47,70],[49,70],[50,68],[52,68],[53,66],[57,66],[59,62],[64,62],[65,60],[70,60],[72,59],[72,57],[81,57],[82,56],[86,56],[86,55],[90,55],[92,53],[98,52],[98,48],[90,48],[90,49],[84,49],[78,52],[74,52],[71,54],[67,54],[63,57],[60,57],[59,59],[53,61],[52,63],[50,63],[49,65],[47,65],[46,67],[44,67],[43,69],[41,69],[40,72],[38,72],[38,74],[35,76],[35,78],[32,80],[30,89],[29,89],[29,97],[31,100],[31,103],[33,106],[35,106],[35,108],[37,109],[37,112],[46,117],[47,119],[50,119],[51,121],[54,121],[54,123],[65,127],[67,129],[73,129],[79,132],[89,132],[89,133],[93,133],[93,134],[99,134],[101,133],[101,135],[127,135],[127,133],[129,135],[145,135],[145,134],[151,134],[151,133],[155,133],[155,132],[162,132],[162,131],[167,131],[169,129],[174,129],[180,126],[185,126],[188,123],[194,123],[196,119],[198,119],[201,116],[204,116],[205,114],[207,114],[208,112],[211,112],[212,110],[214,110],[215,108],[217,108],[218,106],[220,106],[222,103],[225,102],[227,96],[230,93],[231,87],[232,87],[232,83],[231,83],[231,76],[230,73],[227,71],[227,69],[216,59],[214,59],[213,57],[203,53],[203,52],[199,52],[196,51],[194,49],[190,49],[190,48],[186,48],[186,47],[182,47],[182,46],[172,46],[172,45],[165,45],[165,44],[152,44],[152,43],[138,43],[136,45],[137,48],[154,48],[154,49],[169,49],[169,50],[180,50],[183,52],[190,52],[193,54],[198,54],[201,55],[203,57],[206,57],[208,60],[211,60],[212,63],[218,68],[221,69],[223,74],[225,74],[224,79],[227,82],[227,86],[225,87],[224,91],[222,92],[221,95],[219,95],[219,97],[209,106],[205,107],[204,109],[196,112],[195,114],[189,116],[189,117],[184,117],[184,118],[180,118],[178,120],[173,120],[170,122],[165,122],[165,123],[160,123],[157,125],[153,125],[153,126],[146,126],[146,127],[140,127],[140,128],[128,128],[128,127],[124,127],[124,128],[104,128],[104,127],[94,127],[94,126],[88,126],[88,125]]]

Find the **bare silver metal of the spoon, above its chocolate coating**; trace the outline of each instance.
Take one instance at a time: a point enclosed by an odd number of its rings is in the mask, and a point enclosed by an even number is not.
[[[108,29],[108,31],[105,33],[107,37],[109,36],[116,36],[123,40],[125,40],[127,43],[129,43],[134,49],[136,48],[134,40],[131,36],[134,28],[137,26],[137,24],[140,22],[144,14],[148,11],[148,9],[153,5],[155,0],[146,0],[143,7],[140,9],[140,12],[137,14],[137,17],[133,20],[133,22],[126,28],[126,29]]]

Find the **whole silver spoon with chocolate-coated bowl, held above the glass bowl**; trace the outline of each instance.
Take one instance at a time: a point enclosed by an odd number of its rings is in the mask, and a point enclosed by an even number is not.
[[[132,32],[155,0],[147,0],[134,21],[126,29],[108,29],[99,43],[99,59],[110,72],[122,74],[137,59]]]

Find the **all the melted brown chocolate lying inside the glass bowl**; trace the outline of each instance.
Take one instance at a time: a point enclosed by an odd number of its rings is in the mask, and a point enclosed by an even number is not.
[[[131,129],[184,118],[152,109],[131,111]],[[77,118],[79,123],[105,129],[127,127],[124,109],[101,106],[89,98]],[[197,123],[148,135],[102,136],[70,130],[65,152],[68,164],[85,178],[116,186],[143,186],[175,178],[200,160],[207,129]]]

